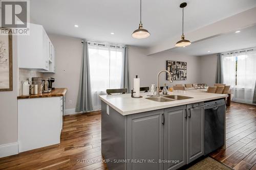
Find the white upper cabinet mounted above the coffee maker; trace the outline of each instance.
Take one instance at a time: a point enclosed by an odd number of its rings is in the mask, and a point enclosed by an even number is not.
[[[30,23],[30,35],[17,39],[19,68],[55,72],[55,48],[42,26]]]

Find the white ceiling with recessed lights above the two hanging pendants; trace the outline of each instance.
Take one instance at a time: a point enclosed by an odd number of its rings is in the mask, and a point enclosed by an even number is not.
[[[31,0],[31,18],[48,33],[90,40],[149,47],[181,34],[182,10],[184,31],[189,32],[210,23],[256,7],[255,0],[146,0],[142,1],[142,23],[151,36],[132,38],[139,25],[139,0]],[[78,25],[75,28],[74,25]],[[114,35],[110,33],[114,32]]]

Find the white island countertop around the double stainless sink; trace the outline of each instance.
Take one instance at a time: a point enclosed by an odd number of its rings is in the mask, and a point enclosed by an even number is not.
[[[215,94],[206,92],[197,92],[189,90],[174,90],[173,92],[168,91],[168,94],[178,94],[192,97],[192,99],[185,99],[171,102],[155,102],[147,100],[150,98],[146,96],[150,92],[141,92],[140,95],[143,98],[132,98],[131,94],[113,94],[113,95],[100,95],[99,98],[113,109],[118,111],[122,115],[129,115],[134,113],[146,112],[151,110],[164,109],[169,107],[187,105],[191,103],[204,102],[209,100],[226,98],[227,94]]]

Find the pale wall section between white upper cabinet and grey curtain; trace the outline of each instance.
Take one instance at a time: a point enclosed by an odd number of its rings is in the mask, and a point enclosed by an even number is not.
[[[53,87],[66,87],[66,109],[76,107],[82,61],[82,43],[79,38],[48,35],[56,51],[56,73],[44,74],[55,78]]]

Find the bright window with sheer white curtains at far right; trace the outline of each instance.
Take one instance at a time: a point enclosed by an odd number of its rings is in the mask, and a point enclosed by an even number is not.
[[[256,52],[222,54],[223,83],[233,90],[232,101],[252,103],[256,81]]]

